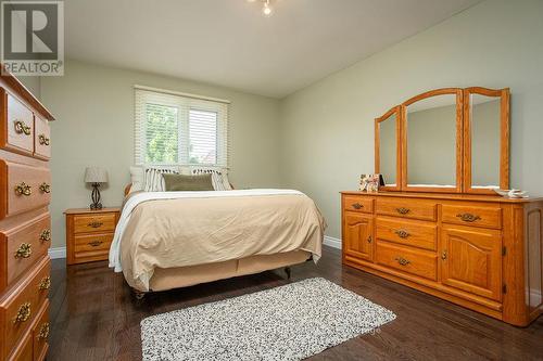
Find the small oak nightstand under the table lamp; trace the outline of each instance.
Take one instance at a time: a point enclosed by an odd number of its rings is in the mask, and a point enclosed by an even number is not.
[[[108,259],[121,209],[66,209],[66,263]]]

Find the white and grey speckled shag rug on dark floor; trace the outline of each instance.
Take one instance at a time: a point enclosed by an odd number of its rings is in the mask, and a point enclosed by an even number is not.
[[[302,360],[395,319],[325,279],[307,279],[141,321],[143,360]]]

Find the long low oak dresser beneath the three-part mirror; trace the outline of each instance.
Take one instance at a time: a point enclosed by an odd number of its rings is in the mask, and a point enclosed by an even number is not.
[[[543,313],[543,199],[342,192],[343,263],[525,326]]]

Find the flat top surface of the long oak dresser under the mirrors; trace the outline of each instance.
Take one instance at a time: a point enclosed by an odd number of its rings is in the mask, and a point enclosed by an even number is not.
[[[397,197],[397,198],[428,198],[428,199],[451,199],[451,201],[478,201],[496,203],[530,203],[543,201],[543,197],[529,198],[506,198],[500,195],[479,195],[479,194],[456,194],[456,193],[418,193],[418,192],[392,192],[380,191],[375,193],[362,191],[342,191],[344,195],[363,195],[378,197]]]

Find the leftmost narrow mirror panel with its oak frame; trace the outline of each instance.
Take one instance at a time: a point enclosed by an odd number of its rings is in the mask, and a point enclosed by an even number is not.
[[[382,175],[389,191],[400,190],[400,106],[375,119],[375,171]]]

